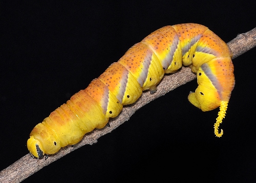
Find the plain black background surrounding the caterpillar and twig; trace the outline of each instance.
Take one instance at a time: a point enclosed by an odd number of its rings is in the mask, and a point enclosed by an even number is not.
[[[255,27],[255,1],[206,2],[1,1],[0,170],[28,153],[37,123],[156,29],[200,23],[228,42]],[[187,100],[195,80],[24,182],[255,182],[254,61],[255,48],[233,60],[222,138],[213,128],[218,109],[201,112]]]

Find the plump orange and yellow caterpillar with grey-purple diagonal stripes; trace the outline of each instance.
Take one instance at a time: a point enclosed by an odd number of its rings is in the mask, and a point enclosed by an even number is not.
[[[182,64],[197,73],[198,88],[188,100],[202,111],[220,107],[215,135],[225,117],[234,88],[231,51],[226,43],[204,25],[167,25],[133,45],[89,86],[37,124],[27,141],[34,158],[54,154],[74,145],[94,128],[103,128],[124,105],[134,103],[144,90],[151,94],[164,73],[177,72]]]

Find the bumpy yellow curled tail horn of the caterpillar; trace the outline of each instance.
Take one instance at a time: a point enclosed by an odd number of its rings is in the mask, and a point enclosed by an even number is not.
[[[221,133],[219,133],[219,126],[222,123],[223,118],[225,118],[227,111],[227,103],[228,101],[221,101],[220,111],[218,113],[218,117],[216,118],[216,123],[214,124],[214,133],[216,137],[221,137],[223,135],[223,130],[221,129]]]

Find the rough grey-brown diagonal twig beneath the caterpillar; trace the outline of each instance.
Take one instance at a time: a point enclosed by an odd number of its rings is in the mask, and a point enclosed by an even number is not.
[[[247,50],[256,46],[256,28],[253,30],[239,34],[236,38],[227,43],[233,53],[233,59],[242,55]],[[161,83],[157,87],[157,92],[151,95],[150,92],[142,93],[142,96],[134,104],[123,108],[118,117],[110,119],[110,127],[106,126],[103,129],[95,129],[93,132],[88,133],[81,142],[73,147],[67,146],[61,148],[59,152],[50,155],[47,160],[32,159],[30,154],[23,156],[6,169],[0,172],[0,182],[20,182],[30,175],[34,174],[41,168],[49,165],[50,163],[58,160],[62,156],[70,153],[71,151],[86,145],[94,144],[101,136],[110,133],[113,129],[117,128],[120,124],[129,120],[129,118],[142,106],[148,102],[164,95],[165,93],[174,90],[175,88],[184,85],[187,82],[196,79],[196,75],[191,72],[189,68],[182,67],[181,70],[175,74],[165,75]]]

